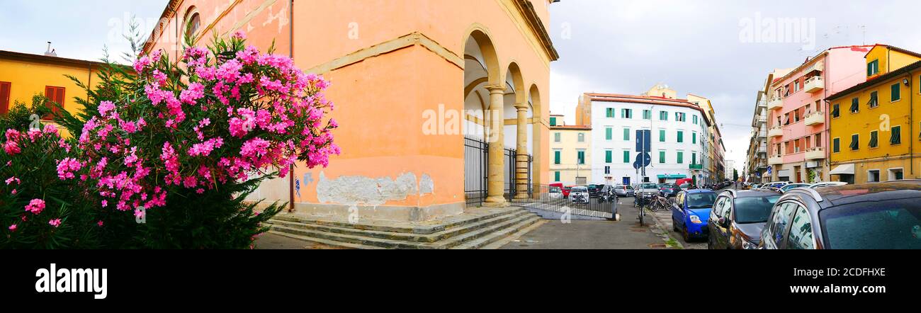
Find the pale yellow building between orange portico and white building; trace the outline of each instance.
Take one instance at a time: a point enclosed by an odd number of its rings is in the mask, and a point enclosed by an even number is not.
[[[592,181],[591,126],[567,126],[563,118],[550,116],[550,180],[564,186],[584,186]],[[612,158],[607,157],[609,161]]]

